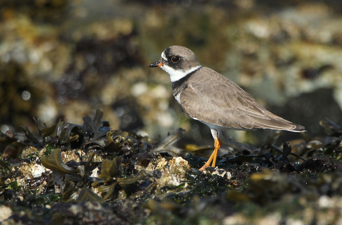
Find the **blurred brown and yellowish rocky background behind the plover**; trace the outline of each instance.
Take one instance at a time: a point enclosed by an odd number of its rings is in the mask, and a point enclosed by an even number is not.
[[[191,49],[273,113],[323,134],[342,123],[342,1],[2,0],[0,125],[33,117],[82,124],[97,108],[112,129],[212,144],[148,65],[171,45]],[[269,131],[228,131],[260,145]],[[282,140],[300,137],[284,132]]]

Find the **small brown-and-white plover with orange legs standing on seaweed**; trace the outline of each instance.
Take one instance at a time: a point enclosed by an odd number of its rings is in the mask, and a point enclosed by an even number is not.
[[[171,46],[161,53],[160,67],[169,75],[173,96],[185,113],[206,125],[214,138],[214,151],[199,170],[215,167],[221,133],[224,129],[253,128],[303,132],[304,127],[291,123],[266,110],[246,91],[218,72],[201,66],[196,55],[182,46]]]

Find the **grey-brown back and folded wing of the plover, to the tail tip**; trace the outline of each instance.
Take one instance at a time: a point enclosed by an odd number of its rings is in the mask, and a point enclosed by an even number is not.
[[[208,73],[212,76],[207,76]],[[192,118],[231,129],[304,131],[303,126],[266,110],[247,92],[212,69],[201,67],[188,82],[180,101]],[[211,85],[205,85],[208,83]]]

